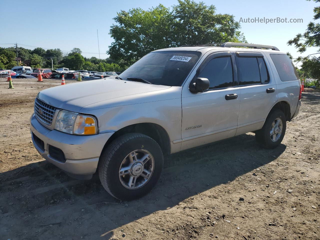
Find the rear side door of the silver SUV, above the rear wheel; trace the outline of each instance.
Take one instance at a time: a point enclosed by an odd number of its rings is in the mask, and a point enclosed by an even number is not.
[[[261,52],[236,52],[240,88],[240,111],[236,135],[262,128],[277,101],[276,83]]]

